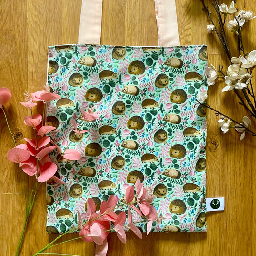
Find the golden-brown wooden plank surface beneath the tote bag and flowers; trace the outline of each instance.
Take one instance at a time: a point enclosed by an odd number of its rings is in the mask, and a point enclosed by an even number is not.
[[[209,63],[227,63],[216,37],[207,34],[209,22],[201,2],[176,0],[176,4],[181,45],[207,44]],[[78,42],[80,7],[81,0],[0,1],[0,86],[12,91],[6,105],[10,126],[24,137],[29,136],[29,130],[23,123],[27,110],[20,105],[23,93],[40,90],[46,83],[48,45]],[[244,0],[237,7],[243,8]],[[245,9],[256,13],[255,1],[247,0]],[[256,49],[256,19],[243,30],[245,49]],[[237,56],[235,37],[228,34]],[[156,45],[154,1],[104,0],[101,38],[102,44]],[[256,90],[255,78],[253,82]],[[223,83],[210,87],[210,105],[237,120],[249,115],[232,92],[221,92],[223,87]],[[152,233],[147,238],[143,235],[142,240],[128,234],[126,244],[110,234],[108,256],[256,255],[256,138],[249,134],[240,142],[235,131],[221,133],[217,120],[213,112],[208,112],[207,197],[225,197],[225,211],[207,213],[207,233]],[[255,122],[252,129],[256,130]],[[1,110],[0,140],[0,255],[12,256],[24,221],[24,189],[20,169],[6,157],[13,144]],[[27,189],[32,187],[33,179],[26,177],[25,182]],[[23,256],[31,256],[56,237],[45,232],[45,194],[43,184],[26,230]],[[93,256],[94,244],[75,240],[50,252]]]

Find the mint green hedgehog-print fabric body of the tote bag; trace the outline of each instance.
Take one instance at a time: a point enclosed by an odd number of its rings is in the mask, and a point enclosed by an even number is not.
[[[50,46],[48,67],[61,96],[47,105],[47,125],[56,127],[49,136],[82,158],[59,159],[55,175],[66,184],[47,183],[47,232],[76,226],[88,198],[96,210],[110,195],[124,202],[137,179],[164,217],[151,232],[206,232],[206,110],[195,101],[207,91],[206,46]],[[97,120],[83,119],[88,107]],[[89,132],[75,134],[72,119]]]

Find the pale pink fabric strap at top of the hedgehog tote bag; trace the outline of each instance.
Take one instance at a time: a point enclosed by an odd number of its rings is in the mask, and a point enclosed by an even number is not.
[[[180,45],[175,0],[154,0],[158,46]],[[82,0],[78,43],[100,44],[102,0]]]

